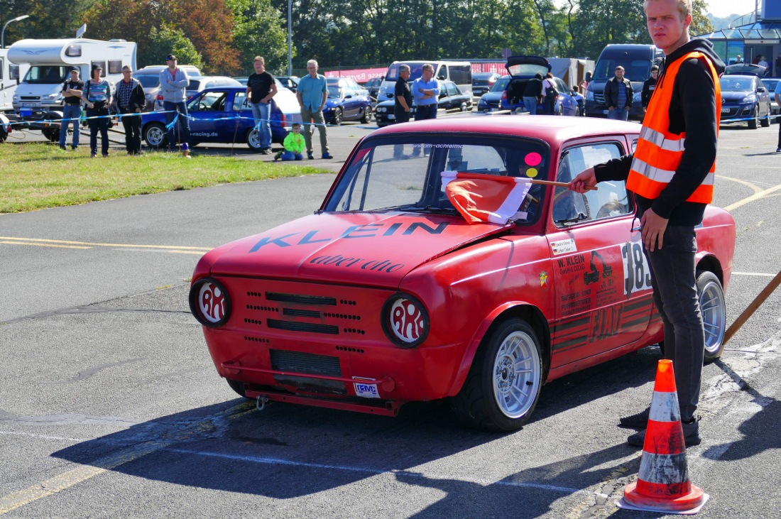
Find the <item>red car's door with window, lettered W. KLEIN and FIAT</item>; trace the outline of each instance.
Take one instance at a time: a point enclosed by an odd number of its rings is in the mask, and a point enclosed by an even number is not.
[[[624,153],[619,140],[572,144],[562,152],[556,180],[569,182]],[[601,182],[597,188],[578,194],[557,187],[551,204],[555,364],[632,343],[651,318],[651,275],[625,183]]]

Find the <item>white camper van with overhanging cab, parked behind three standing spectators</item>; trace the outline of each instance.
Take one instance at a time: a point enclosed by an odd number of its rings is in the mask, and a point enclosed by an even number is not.
[[[70,68],[77,66],[82,80],[89,80],[93,65],[100,65],[112,85],[122,79],[122,67],[136,69],[136,44],[124,40],[98,41],[87,38],[65,40],[20,40],[8,49],[14,63],[29,63],[30,69],[16,87],[12,105],[27,127],[43,130],[52,140],[59,138],[59,123],[36,123],[62,118],[62,84]]]

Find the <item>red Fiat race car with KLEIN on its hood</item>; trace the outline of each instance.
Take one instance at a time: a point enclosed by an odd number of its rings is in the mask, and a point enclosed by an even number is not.
[[[569,182],[640,126],[485,117],[362,139],[313,215],[198,262],[191,310],[241,396],[395,415],[449,398],[466,425],[520,428],[544,382],[662,340],[622,182]],[[722,353],[735,222],[697,229],[706,358]]]

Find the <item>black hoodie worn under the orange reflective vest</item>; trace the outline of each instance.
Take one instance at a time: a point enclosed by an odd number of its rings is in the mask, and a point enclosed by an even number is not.
[[[694,39],[665,57],[657,85],[664,83],[670,63],[694,51],[708,55],[719,76],[724,73],[724,62],[713,52],[711,42]],[[686,198],[702,183],[716,158],[719,126],[716,123],[715,84],[710,69],[700,59],[687,59],[681,63],[675,81],[669,108],[669,132],[686,132],[686,149],[676,175],[657,198],[649,200],[636,195],[637,215],[641,216],[647,208],[652,208],[657,215],[669,219],[669,225],[697,226],[702,222],[707,204],[687,202]],[[631,165],[632,155],[597,165],[594,167],[597,182],[626,180]]]

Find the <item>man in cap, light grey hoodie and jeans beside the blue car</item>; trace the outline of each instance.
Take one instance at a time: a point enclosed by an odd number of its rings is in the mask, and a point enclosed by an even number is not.
[[[166,56],[167,69],[160,72],[162,109],[166,111],[168,149],[177,151],[177,140],[182,142],[182,155],[190,157],[190,119],[187,116],[187,87],[190,77],[177,66],[177,56]],[[176,120],[176,124],[172,124]],[[176,138],[175,138],[176,137]]]

